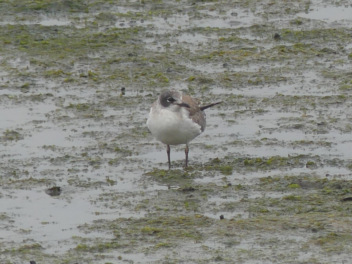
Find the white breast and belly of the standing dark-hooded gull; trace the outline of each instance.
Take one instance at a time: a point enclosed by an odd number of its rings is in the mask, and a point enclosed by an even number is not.
[[[193,122],[183,108],[178,112],[151,108],[147,126],[157,140],[167,145],[187,144],[202,133],[200,125]]]

